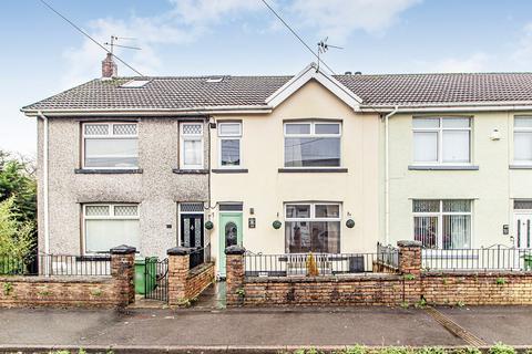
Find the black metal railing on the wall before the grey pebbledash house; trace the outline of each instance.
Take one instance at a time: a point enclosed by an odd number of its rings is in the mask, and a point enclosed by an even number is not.
[[[38,254],[25,258],[0,257],[0,275],[111,275],[111,257]]]

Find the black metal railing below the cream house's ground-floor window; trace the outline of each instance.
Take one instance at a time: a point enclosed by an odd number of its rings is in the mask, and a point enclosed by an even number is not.
[[[314,267],[310,257],[314,258]],[[379,262],[378,253],[263,254],[246,252],[244,254],[245,274],[247,277],[369,273],[374,271],[377,262]]]

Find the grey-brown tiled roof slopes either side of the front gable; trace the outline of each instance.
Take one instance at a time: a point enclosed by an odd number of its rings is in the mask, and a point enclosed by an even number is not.
[[[265,100],[293,76],[120,77],[92,80],[23,107],[49,110],[198,110],[216,106],[265,106]],[[335,75],[362,98],[361,106],[446,103],[532,104],[532,73]],[[149,80],[143,87],[120,87],[130,80]]]

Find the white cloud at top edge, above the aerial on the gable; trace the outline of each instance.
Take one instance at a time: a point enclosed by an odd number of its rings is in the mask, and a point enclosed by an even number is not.
[[[301,25],[313,27],[320,37],[344,43],[356,30],[381,34],[399,14],[420,0],[295,0],[290,7]]]

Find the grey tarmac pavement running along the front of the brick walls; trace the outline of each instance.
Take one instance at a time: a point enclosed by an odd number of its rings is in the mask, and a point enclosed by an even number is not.
[[[488,344],[532,345],[532,308],[439,309]],[[1,345],[466,345],[423,310],[0,310]]]

